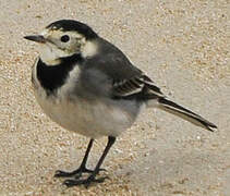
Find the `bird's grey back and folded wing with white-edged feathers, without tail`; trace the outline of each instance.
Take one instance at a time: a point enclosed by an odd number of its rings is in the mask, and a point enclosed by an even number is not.
[[[154,82],[141,70],[135,68],[129,59],[113,45],[104,41],[104,52],[87,60],[85,72],[90,76],[92,90],[112,98],[153,99],[165,97]],[[97,63],[96,63],[97,62]]]

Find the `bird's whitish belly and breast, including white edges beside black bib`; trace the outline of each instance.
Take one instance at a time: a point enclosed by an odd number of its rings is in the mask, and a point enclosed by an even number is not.
[[[35,97],[45,113],[64,128],[90,138],[100,136],[116,137],[135,121],[140,107],[134,102],[123,101],[118,105],[116,100],[106,100],[107,103],[101,103],[101,101],[89,101],[76,95],[70,98],[77,81],[77,66],[70,73],[70,75],[72,74],[72,77],[70,77],[72,81],[69,79],[58,90],[57,96],[47,97],[36,78],[36,63],[33,68]]]

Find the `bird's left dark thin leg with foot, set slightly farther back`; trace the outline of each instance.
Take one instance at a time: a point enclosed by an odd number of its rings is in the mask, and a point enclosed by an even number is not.
[[[93,173],[93,170],[86,169],[86,162],[87,162],[88,155],[92,149],[93,143],[94,143],[94,139],[90,139],[88,143],[88,147],[85,151],[83,161],[77,170],[74,170],[72,172],[65,172],[65,171],[58,170],[58,171],[56,171],[55,177],[66,177],[66,176],[73,176],[73,175],[77,174],[76,179],[78,179],[82,176],[82,173]]]

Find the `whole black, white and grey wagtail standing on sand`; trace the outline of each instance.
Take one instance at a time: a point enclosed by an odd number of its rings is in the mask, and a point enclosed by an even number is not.
[[[136,120],[143,107],[157,107],[214,131],[217,126],[201,115],[170,101],[154,82],[135,68],[116,46],[99,37],[89,26],[61,20],[40,35],[26,36],[40,44],[40,56],[32,72],[35,97],[51,120],[69,131],[90,138],[80,168],[57,171],[66,186],[104,182],[96,177],[116,138]],[[86,161],[95,138],[108,136],[96,168]],[[82,179],[82,173],[90,173]]]

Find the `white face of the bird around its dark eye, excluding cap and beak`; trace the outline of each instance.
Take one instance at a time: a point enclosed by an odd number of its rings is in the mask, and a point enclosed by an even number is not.
[[[89,57],[96,53],[97,47],[93,41],[76,32],[62,32],[61,29],[45,29],[41,35],[47,40],[40,44],[40,59],[47,65],[56,65],[60,58],[71,57],[74,53]]]

